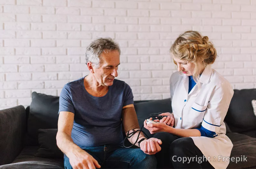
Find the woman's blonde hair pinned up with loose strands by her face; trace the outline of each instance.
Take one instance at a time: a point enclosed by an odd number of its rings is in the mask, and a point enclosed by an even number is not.
[[[170,48],[172,57],[195,64],[193,79],[200,88],[200,68],[203,63],[204,69],[207,65],[214,63],[217,52],[207,36],[202,36],[197,31],[186,31],[174,41]],[[173,60],[174,64],[177,63]],[[199,64],[200,63],[200,64]]]

